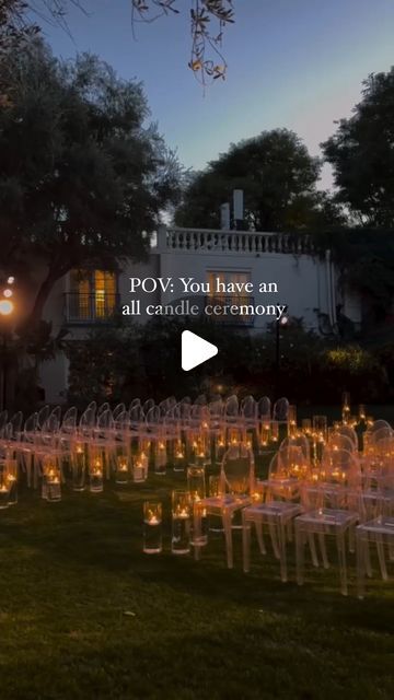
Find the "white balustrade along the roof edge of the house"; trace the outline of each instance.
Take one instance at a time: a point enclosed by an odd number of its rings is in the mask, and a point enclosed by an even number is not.
[[[308,234],[218,231],[211,229],[162,228],[158,234],[161,253],[292,254],[311,255]]]

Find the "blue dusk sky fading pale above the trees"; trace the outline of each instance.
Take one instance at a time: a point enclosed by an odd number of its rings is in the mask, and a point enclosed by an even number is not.
[[[177,16],[135,27],[128,0],[83,0],[72,38],[45,26],[56,55],[90,50],[137,78],[161,133],[187,167],[202,168],[231,142],[287,127],[318,154],[333,121],[349,116],[361,81],[394,65],[394,0],[235,0],[224,33],[228,77],[206,94],[187,68],[189,0]],[[329,185],[328,172],[322,185]]]

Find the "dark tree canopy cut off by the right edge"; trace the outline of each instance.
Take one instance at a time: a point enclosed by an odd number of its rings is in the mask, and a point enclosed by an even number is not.
[[[394,68],[363,81],[362,100],[322,144],[337,200],[360,224],[394,226]]]

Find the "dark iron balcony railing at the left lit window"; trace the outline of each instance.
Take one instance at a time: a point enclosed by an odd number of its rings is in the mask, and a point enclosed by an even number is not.
[[[69,324],[109,323],[118,310],[118,294],[66,294],[65,315]]]

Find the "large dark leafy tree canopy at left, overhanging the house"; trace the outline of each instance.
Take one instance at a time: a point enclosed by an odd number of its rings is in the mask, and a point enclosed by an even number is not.
[[[181,170],[157,126],[146,124],[141,84],[120,80],[96,57],[63,62],[35,40],[8,56],[8,70],[0,245],[8,265],[28,254],[46,261],[38,319],[54,282],[72,267],[143,256],[144,232],[176,201]]]

